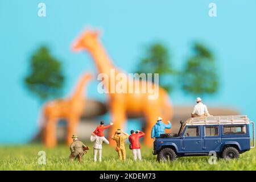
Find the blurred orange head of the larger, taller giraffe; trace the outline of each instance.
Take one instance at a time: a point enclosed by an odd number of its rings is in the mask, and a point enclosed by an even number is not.
[[[81,51],[94,48],[97,45],[99,34],[99,31],[96,30],[85,30],[72,44],[72,50]]]

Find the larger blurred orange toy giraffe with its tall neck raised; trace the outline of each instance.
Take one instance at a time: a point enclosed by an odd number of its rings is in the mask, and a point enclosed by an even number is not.
[[[123,127],[127,114],[141,114],[146,118],[145,144],[152,146],[151,129],[155,125],[157,118],[160,116],[167,121],[172,117],[172,106],[167,92],[159,87],[159,97],[156,100],[148,100],[148,93],[112,93],[109,86],[110,80],[115,79],[117,73],[120,73],[113,65],[104,47],[98,39],[98,32],[85,30],[84,33],[73,43],[73,51],[85,49],[90,53],[99,73],[105,73],[109,79],[103,79],[105,88],[109,91],[110,115],[114,125],[110,128],[110,133],[114,134],[117,129]],[[110,74],[115,70],[115,75]],[[123,80],[121,80],[123,81]],[[137,80],[138,82],[138,80]],[[115,81],[115,86],[118,82]],[[148,82],[146,82],[146,85]],[[139,85],[144,85],[144,81],[139,81]],[[134,86],[127,83],[127,88]],[[155,85],[153,84],[152,87]],[[134,88],[134,87],[133,87]],[[114,145],[113,140],[109,139],[110,144]]]

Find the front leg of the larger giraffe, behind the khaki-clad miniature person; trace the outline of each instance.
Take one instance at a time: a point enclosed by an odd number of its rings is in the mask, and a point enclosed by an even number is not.
[[[113,126],[109,130],[109,144],[115,146],[115,141],[111,139],[117,129],[122,129],[123,123],[126,121],[126,110],[122,102],[112,102],[110,104],[110,114],[112,118]]]

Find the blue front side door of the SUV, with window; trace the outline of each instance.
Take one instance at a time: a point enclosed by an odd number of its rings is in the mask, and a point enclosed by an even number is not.
[[[183,151],[201,152],[202,150],[201,126],[187,126],[183,133]]]

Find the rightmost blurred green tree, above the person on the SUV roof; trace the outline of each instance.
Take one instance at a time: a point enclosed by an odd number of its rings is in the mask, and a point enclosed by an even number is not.
[[[193,53],[180,75],[184,92],[194,96],[216,93],[219,82],[212,52],[203,44],[194,43]]]

